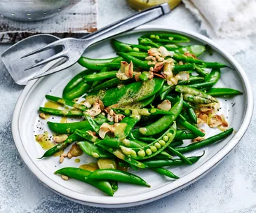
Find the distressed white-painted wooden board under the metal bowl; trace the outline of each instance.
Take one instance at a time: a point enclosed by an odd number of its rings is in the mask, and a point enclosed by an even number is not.
[[[37,22],[18,22],[0,18],[0,43],[14,43],[34,34],[79,37],[97,30],[97,0],[81,0],[78,4]]]

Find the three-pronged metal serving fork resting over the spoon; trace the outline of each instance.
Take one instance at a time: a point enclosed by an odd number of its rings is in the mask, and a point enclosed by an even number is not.
[[[88,48],[88,46],[91,46],[93,43],[97,43],[98,41],[115,36],[116,34],[121,34],[123,32],[126,32],[146,22],[155,20],[156,18],[159,18],[161,15],[166,15],[167,13],[170,13],[170,7],[168,6],[168,4],[167,3],[160,4],[159,6],[154,6],[144,11],[140,11],[138,13],[130,15],[127,18],[119,20],[118,22],[115,22],[112,25],[108,25],[107,27],[97,30],[96,32],[93,32],[89,36],[86,36],[82,39],[74,39],[74,38],[60,39],[58,41],[48,44],[47,46],[34,50],[32,53],[28,53],[27,55],[24,55],[22,58],[27,57],[29,55],[34,55],[36,53],[40,53],[45,50],[49,50],[50,48],[62,46],[62,51],[60,53],[57,53],[56,55],[48,57],[46,60],[43,60],[37,64],[34,64],[32,67],[29,67],[27,69],[38,67],[42,64],[46,64],[53,60],[57,60],[61,57],[65,58],[66,60],[63,60],[64,62],[62,62],[62,64],[59,63],[58,67],[50,69],[49,71],[43,74],[34,76],[30,80],[47,76],[55,72],[61,71],[63,69],[66,69],[68,67],[71,67],[73,64],[75,64],[79,60],[79,58],[81,57],[83,52],[86,50],[86,48]]]

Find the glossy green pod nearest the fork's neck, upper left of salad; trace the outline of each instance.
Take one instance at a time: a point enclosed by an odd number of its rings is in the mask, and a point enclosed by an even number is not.
[[[117,57],[107,58],[107,59],[91,59],[88,57],[80,57],[79,64],[87,69],[91,70],[102,70],[104,67],[100,66],[99,64],[105,64],[116,60]]]

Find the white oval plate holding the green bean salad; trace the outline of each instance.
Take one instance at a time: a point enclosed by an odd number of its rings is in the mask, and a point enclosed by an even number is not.
[[[119,184],[119,190],[115,193],[114,197],[108,197],[97,190],[97,188],[93,188],[93,186],[89,186],[83,182],[73,179],[64,181],[58,175],[53,174],[53,172],[66,166],[79,167],[79,165],[83,163],[90,163],[93,159],[83,154],[83,156],[79,157],[81,158],[81,163],[79,164],[74,162],[74,158],[71,160],[66,159],[62,164],[58,163],[58,158],[53,157],[36,160],[37,157],[42,156],[44,151],[41,149],[41,146],[35,142],[34,135],[39,134],[43,130],[48,130],[46,121],[43,121],[38,116],[39,107],[42,107],[44,102],[46,102],[44,95],[51,94],[61,96],[62,89],[65,87],[66,83],[72,76],[82,70],[81,66],[76,64],[66,71],[61,71],[37,81],[29,82],[20,95],[13,114],[13,138],[20,156],[29,167],[29,170],[53,191],[76,202],[97,207],[129,207],[151,202],[163,198],[166,195],[170,195],[193,183],[200,177],[203,177],[203,175],[212,170],[213,167],[227,156],[245,133],[252,116],[253,97],[252,89],[245,75],[245,71],[243,71],[236,60],[205,36],[183,30],[143,26],[132,32],[118,36],[118,39],[126,41],[127,43],[136,43],[137,38],[141,34],[152,31],[177,32],[189,36],[191,43],[201,43],[203,45],[208,43],[213,48],[213,55],[205,54],[202,57],[203,60],[224,62],[230,67],[234,67],[234,70],[222,69],[222,77],[216,87],[234,88],[243,92],[243,95],[236,97],[220,98],[222,113],[228,117],[227,121],[229,125],[234,128],[236,133],[230,135],[222,142],[187,153],[187,156],[198,156],[203,150],[206,151],[205,156],[194,165],[171,168],[171,170],[180,177],[180,179],[176,181],[161,177],[151,170],[139,170],[134,172],[151,184],[151,188]],[[110,46],[109,41],[103,41],[86,50],[85,55],[92,58],[113,57],[114,50]],[[59,121],[58,118],[54,120],[50,118],[50,120]],[[42,128],[42,130],[40,128]],[[207,130],[207,137],[217,132],[219,132],[219,130]]]

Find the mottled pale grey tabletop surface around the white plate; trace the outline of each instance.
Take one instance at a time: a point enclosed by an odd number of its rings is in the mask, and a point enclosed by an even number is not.
[[[133,12],[126,6],[126,1],[99,0],[99,27]],[[153,23],[200,32],[199,23],[184,6]],[[255,43],[256,36],[251,36],[250,40]],[[8,46],[0,46],[0,54],[6,48]],[[234,57],[250,76],[252,90],[256,90],[255,46],[236,53]],[[0,212],[256,212],[255,116],[234,151],[194,184],[146,205],[101,209],[79,205],[53,193],[22,162],[11,134],[13,109],[22,89],[23,86],[15,85],[0,60]]]

